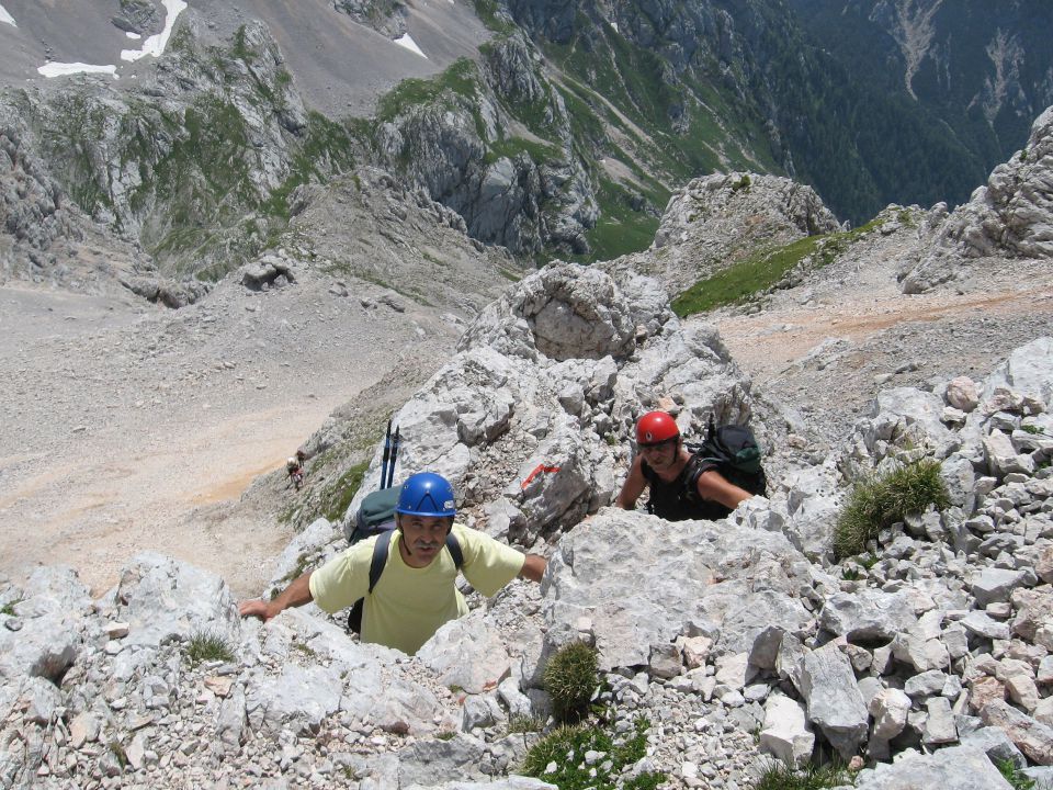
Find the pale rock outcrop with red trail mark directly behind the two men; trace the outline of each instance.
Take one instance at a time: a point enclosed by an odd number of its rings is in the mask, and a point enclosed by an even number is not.
[[[657,282],[552,266],[484,311],[395,416],[414,437],[401,469],[444,474],[463,505],[488,504],[488,532],[531,545],[611,500],[635,417],[659,398],[684,432],[711,413],[750,414],[749,382],[720,337],[683,329]],[[377,455],[346,528],[380,467]]]

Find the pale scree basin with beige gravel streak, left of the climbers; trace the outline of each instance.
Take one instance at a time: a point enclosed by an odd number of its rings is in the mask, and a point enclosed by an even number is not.
[[[353,309],[330,317],[308,286],[217,300],[173,313],[0,287],[0,573],[68,564],[99,595],[151,550],[259,591],[292,533],[269,514],[231,517],[234,505],[389,351],[351,342]],[[288,353],[294,320],[303,351]]]

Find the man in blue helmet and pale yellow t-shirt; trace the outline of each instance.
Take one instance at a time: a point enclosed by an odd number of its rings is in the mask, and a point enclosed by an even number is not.
[[[453,522],[453,488],[441,475],[420,472],[403,484],[396,529],[381,578],[370,592],[376,538],[355,543],[317,571],[308,571],[274,600],[244,601],[242,617],[270,620],[290,607],[315,601],[335,613],[364,598],[362,641],[412,655],[449,620],[466,614],[457,590],[457,565],[446,546],[451,532],[461,549],[461,572],[475,589],[491,596],[517,576],[540,582],[545,558],[523,554],[489,535]]]

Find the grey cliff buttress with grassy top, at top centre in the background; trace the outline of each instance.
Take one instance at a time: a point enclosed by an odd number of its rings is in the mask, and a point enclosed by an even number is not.
[[[473,64],[453,67],[471,89],[453,82],[385,119],[376,133],[381,161],[463,216],[473,238],[513,252],[587,252],[598,206],[563,98],[539,69],[521,34],[490,44],[478,72]],[[524,127],[510,108],[529,108],[535,122]]]

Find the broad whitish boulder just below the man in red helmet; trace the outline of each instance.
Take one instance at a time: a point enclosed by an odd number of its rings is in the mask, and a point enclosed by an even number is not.
[[[642,514],[604,510],[559,543],[550,564],[550,637],[588,617],[603,669],[648,666],[652,647],[706,633],[721,653],[744,653],[771,624],[812,622],[790,568],[800,554],[780,534],[728,522],[648,529]],[[623,540],[633,534],[631,542]],[[616,590],[638,590],[623,595]]]

